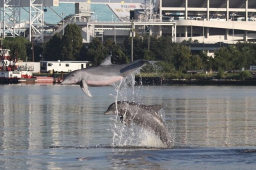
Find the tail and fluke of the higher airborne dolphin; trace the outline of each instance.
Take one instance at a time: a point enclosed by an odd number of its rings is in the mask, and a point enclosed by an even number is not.
[[[132,74],[134,71],[140,69],[141,67],[145,66],[145,64],[155,64],[157,61],[148,61],[145,59],[135,60],[134,62],[128,64],[126,67],[120,70],[120,73],[123,74],[123,77],[126,77]]]

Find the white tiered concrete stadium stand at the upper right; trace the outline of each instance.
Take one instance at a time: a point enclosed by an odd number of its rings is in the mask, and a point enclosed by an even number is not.
[[[159,18],[176,23],[176,42],[236,43],[256,40],[255,0],[157,0]],[[162,34],[170,29],[160,26]]]

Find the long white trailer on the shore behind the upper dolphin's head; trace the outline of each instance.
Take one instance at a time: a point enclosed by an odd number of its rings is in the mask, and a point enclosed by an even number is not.
[[[88,63],[88,61],[40,61],[40,72],[71,72],[86,68]]]

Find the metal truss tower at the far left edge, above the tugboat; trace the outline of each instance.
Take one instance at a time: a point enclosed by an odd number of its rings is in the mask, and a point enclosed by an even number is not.
[[[2,37],[15,37],[20,35],[20,0],[1,0],[0,4],[3,19],[0,15]]]

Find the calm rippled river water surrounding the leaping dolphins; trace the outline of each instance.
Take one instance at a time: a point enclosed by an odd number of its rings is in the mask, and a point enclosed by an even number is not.
[[[0,169],[254,169],[256,87],[0,85]],[[103,115],[162,104],[173,141]]]

